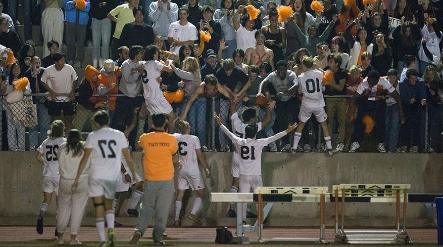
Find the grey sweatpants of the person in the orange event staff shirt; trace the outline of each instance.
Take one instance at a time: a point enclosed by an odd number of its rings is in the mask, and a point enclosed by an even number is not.
[[[169,208],[174,199],[174,181],[150,181],[143,183],[143,199],[139,220],[135,228],[136,232],[143,234],[155,213],[155,221],[152,232],[152,239],[155,242],[163,240],[163,233],[166,229]]]

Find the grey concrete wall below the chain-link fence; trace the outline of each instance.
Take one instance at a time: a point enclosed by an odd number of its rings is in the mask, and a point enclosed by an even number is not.
[[[229,192],[231,188],[231,154],[205,153],[211,167],[211,177],[204,178],[209,199],[210,192]],[[42,166],[34,152],[0,152],[0,224],[34,223],[41,194]],[[133,154],[137,169],[142,174],[140,153]],[[264,153],[262,160],[265,186],[329,186],[339,183],[409,183],[411,193],[443,193],[442,154],[297,154]],[[190,194],[186,215],[191,210],[195,194]],[[204,200],[199,217],[205,225],[234,224],[226,218],[227,204],[210,204]],[[333,225],[334,205],[326,205],[327,225]],[[172,212],[171,207],[171,212]],[[120,216],[125,216],[127,200],[121,203]],[[353,226],[394,226],[395,204],[348,204],[346,222]],[[91,202],[87,216],[92,216]],[[48,214],[55,213],[54,203]],[[408,204],[408,226],[433,226],[421,204]],[[172,215],[172,214],[171,214]],[[269,224],[312,226],[318,224],[319,206],[315,203],[276,204]],[[184,217],[185,218],[185,217]],[[27,220],[30,219],[30,220]],[[191,224],[183,220],[183,225]]]

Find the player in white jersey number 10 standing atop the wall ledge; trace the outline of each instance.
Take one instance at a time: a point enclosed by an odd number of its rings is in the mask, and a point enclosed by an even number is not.
[[[301,131],[309,118],[314,114],[317,121],[320,123],[323,129],[323,135],[326,142],[326,148],[328,149],[329,156],[333,156],[337,153],[337,150],[332,149],[331,135],[329,134],[328,125],[326,119],[328,115],[325,112],[325,100],[322,93],[322,80],[323,72],[320,70],[314,70],[314,59],[309,56],[304,56],[301,61],[306,70],[298,77],[298,92],[303,94],[301,99],[300,112],[298,113],[299,124],[294,133],[294,145],[292,147],[292,153],[297,153],[298,142],[301,138]],[[292,95],[297,86],[292,86],[288,91],[284,92],[284,95]]]

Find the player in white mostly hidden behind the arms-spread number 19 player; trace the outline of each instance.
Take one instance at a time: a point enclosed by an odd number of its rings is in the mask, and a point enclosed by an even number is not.
[[[256,78],[249,78],[249,81],[255,81]],[[246,109],[242,113],[242,120],[240,120],[239,114],[237,113],[237,102],[231,101],[230,106],[230,114],[231,114],[231,127],[234,131],[234,134],[237,135],[240,138],[245,138],[245,128],[248,124],[253,124],[256,122],[256,115],[257,111],[253,108]],[[257,123],[257,132],[260,131],[262,128],[266,127],[266,125],[271,122],[271,112],[267,111],[266,118],[263,120],[263,122]],[[232,186],[231,186],[231,193],[237,193],[239,190],[239,170],[240,170],[240,156],[237,149],[234,148],[234,152],[232,154],[232,167],[231,167],[231,175],[232,175]],[[235,203],[229,203],[229,211],[228,214],[230,217],[236,217],[235,212]],[[247,216],[248,218],[253,218],[255,215],[252,214],[250,211],[250,204],[248,204],[247,208]]]

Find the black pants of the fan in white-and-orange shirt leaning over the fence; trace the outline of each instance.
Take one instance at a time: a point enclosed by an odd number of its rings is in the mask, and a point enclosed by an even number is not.
[[[354,122],[354,134],[352,136],[352,141],[361,141],[363,130],[365,128],[363,117],[368,115],[375,121],[375,135],[377,142],[385,143],[385,111],[386,102],[384,100],[374,101],[361,99],[358,104],[357,118]]]

